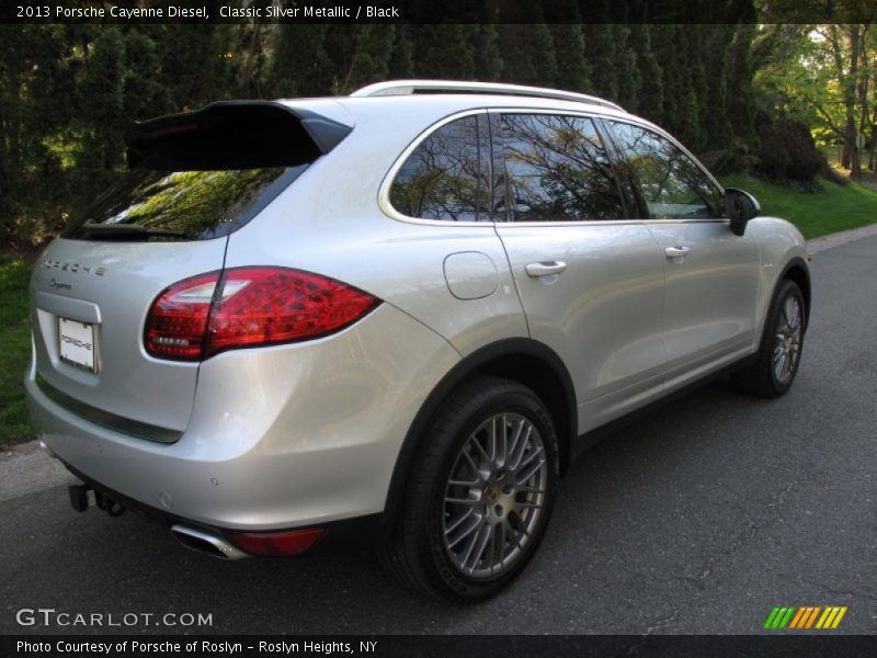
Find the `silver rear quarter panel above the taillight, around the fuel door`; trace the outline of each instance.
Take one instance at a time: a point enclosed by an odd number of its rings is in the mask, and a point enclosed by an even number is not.
[[[363,105],[366,99],[351,101]],[[441,109],[431,110],[436,122],[443,118]],[[402,115],[388,123],[381,107],[364,104],[350,139],[305,171],[258,222],[230,236],[226,266],[258,261],[330,275],[409,314],[463,355],[497,340],[526,337],[521,302],[491,223],[415,224],[388,217],[379,207],[376,191],[411,141],[406,128],[418,134],[423,121]],[[286,234],[288,241],[277,239]],[[492,261],[497,283],[491,294],[462,299],[447,286],[445,259],[466,251]]]

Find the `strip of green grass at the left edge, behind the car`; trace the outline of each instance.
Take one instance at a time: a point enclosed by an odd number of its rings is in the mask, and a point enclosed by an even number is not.
[[[30,273],[20,257],[0,256],[0,445],[34,434],[22,386],[31,358]]]

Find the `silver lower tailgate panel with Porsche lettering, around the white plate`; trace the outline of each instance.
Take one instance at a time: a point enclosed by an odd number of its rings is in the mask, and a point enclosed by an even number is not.
[[[163,288],[221,269],[225,249],[225,238],[198,242],[54,240],[31,279],[31,326],[39,375],[91,407],[184,430],[198,364],[147,354],[144,325]],[[96,373],[59,360],[59,317],[94,322]]]

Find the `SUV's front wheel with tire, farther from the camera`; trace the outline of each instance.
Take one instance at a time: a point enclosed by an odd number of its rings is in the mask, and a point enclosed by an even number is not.
[[[763,398],[777,398],[791,387],[807,330],[805,308],[798,284],[788,279],[781,281],[767,309],[755,362],[731,375],[736,388]]]

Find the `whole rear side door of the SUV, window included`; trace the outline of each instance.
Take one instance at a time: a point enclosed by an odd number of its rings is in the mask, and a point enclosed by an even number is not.
[[[592,118],[503,112],[492,126],[508,219],[497,231],[529,333],[569,368],[585,431],[662,387],[662,257],[629,218]]]

